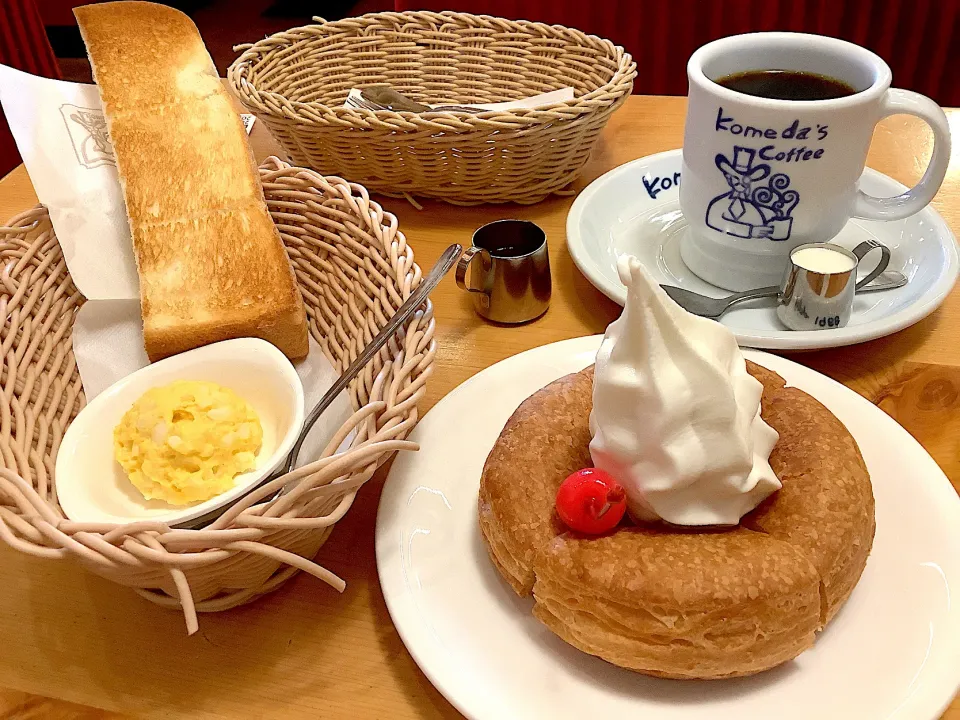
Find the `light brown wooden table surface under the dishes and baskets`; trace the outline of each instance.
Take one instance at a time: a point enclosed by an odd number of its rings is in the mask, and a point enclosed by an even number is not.
[[[630,98],[604,131],[583,183],[629,160],[679,147],[684,110],[683,98]],[[960,110],[949,117],[960,138]],[[926,166],[931,142],[921,122],[890,118],[876,132],[869,164],[911,185]],[[258,123],[258,157],[271,143]],[[960,229],[957,145],[934,205]],[[22,167],[0,181],[0,220],[34,202]],[[452,277],[436,290],[440,350],[424,410],[499,360],[601,333],[617,317],[620,308],[587,282],[567,252],[571,202],[478,208],[427,202],[418,211],[402,200],[383,200],[400,218],[423,267],[449,243],[467,245],[475,228],[499,218],[533,220],[550,243],[552,305],[530,325],[486,324]],[[896,417],[960,488],[960,289],[929,318],[896,335],[792,357]],[[9,688],[0,691],[0,718],[460,717],[405,650],[380,593],[374,521],[383,479],[363,488],[317,558],[346,579],[346,592],[337,595],[301,575],[252,605],[201,616],[193,637],[177,612],[75,565],[0,546],[0,686]],[[960,699],[944,718],[960,720]]]

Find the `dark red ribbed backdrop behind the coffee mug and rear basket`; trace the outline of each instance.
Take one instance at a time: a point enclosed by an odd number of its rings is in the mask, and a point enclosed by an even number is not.
[[[686,61],[710,40],[759,30],[832,35],[893,69],[894,85],[960,105],[960,0],[394,0],[397,10],[458,10],[576,27],[623,45],[634,92],[685,95]]]

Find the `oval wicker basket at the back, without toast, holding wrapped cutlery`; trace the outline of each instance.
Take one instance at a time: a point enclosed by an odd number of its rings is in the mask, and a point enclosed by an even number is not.
[[[453,12],[316,20],[243,46],[228,77],[294,163],[385,195],[472,205],[562,192],[636,76],[622,47],[556,25]],[[575,99],[479,114],[343,107],[351,88],[382,85],[431,105],[564,87]]]

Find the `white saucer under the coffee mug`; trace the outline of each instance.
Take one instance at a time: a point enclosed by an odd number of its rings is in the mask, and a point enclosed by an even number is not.
[[[617,258],[623,254],[637,256],[660,283],[712,297],[729,294],[698,278],[680,259],[680,238],[686,230],[677,184],[680,165],[680,150],[621,165],[590,183],[567,215],[567,247],[573,261],[597,289],[621,305],[626,288],[617,277]],[[878,197],[906,190],[869,168],[860,187]],[[851,249],[867,238],[890,248],[890,269],[904,273],[909,282],[896,290],[857,295],[847,327],[787,330],[777,320],[773,299],[734,306],[721,322],[741,345],[813,350],[889,335],[940,306],[956,282],[960,261],[953,233],[936,210],[926,207],[893,222],[851,220],[832,242]],[[864,260],[865,265],[868,262],[873,260]]]

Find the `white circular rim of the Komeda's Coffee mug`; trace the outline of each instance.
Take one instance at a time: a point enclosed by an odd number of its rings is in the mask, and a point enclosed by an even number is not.
[[[835,52],[840,51],[850,55],[854,61],[859,61],[864,65],[871,66],[874,70],[874,79],[873,82],[863,90],[841,98],[830,98],[826,100],[781,100],[778,98],[766,98],[737,92],[736,90],[731,90],[730,88],[720,85],[707,76],[703,69],[704,64],[728,52],[742,51],[745,43],[752,46],[785,43],[793,47],[812,47],[814,51],[818,48],[829,48]],[[761,68],[744,68],[743,72],[749,72],[751,69]],[[849,108],[864,102],[876,100],[878,96],[890,88],[893,80],[893,72],[890,70],[890,66],[887,65],[886,61],[879,55],[861,45],[847,40],[813,33],[754,32],[729,35],[699,47],[687,61],[687,79],[691,86],[697,85],[701,89],[713,93],[729,102],[747,103],[777,110],[790,108],[832,110]]]

